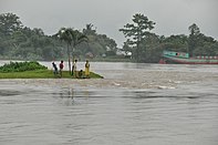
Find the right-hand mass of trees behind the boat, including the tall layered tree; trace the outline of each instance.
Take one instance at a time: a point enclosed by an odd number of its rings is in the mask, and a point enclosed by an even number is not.
[[[165,38],[152,33],[155,22],[144,14],[133,15],[133,23],[127,23],[121,32],[127,38],[123,51],[131,52],[133,61],[158,62],[164,50],[188,52],[195,55],[218,55],[218,41],[200,33],[197,24],[191,24],[190,34],[170,35]]]

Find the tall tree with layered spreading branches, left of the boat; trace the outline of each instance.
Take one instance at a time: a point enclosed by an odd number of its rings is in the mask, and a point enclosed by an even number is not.
[[[133,15],[133,22],[134,23],[131,24],[127,23],[124,25],[124,29],[120,29],[120,31],[122,31],[126,38],[132,38],[132,40],[128,39],[125,44],[129,44],[129,48],[134,48],[132,51],[133,59],[137,62],[146,61],[147,58],[152,56],[147,56],[147,49],[149,49],[150,45],[148,46],[146,44],[148,41],[156,39],[156,35],[149,32],[154,29],[155,22],[149,21],[147,17],[141,13]]]

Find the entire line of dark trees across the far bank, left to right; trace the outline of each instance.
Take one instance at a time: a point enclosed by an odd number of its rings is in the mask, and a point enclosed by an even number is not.
[[[188,52],[190,56],[218,55],[218,41],[200,32],[193,23],[189,34],[158,35],[153,33],[155,22],[146,15],[136,13],[133,22],[120,31],[126,41],[122,48],[106,34],[98,34],[92,23],[82,31],[61,28],[53,35],[46,35],[42,29],[24,27],[13,13],[0,14],[0,59],[60,60],[73,58],[126,58],[133,62],[158,62],[164,50]],[[117,50],[131,53],[131,56],[117,56]]]

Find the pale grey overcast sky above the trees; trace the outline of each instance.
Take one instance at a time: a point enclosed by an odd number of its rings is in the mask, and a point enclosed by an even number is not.
[[[218,0],[0,0],[0,13],[12,12],[25,27],[54,34],[62,27],[79,30],[93,23],[97,33],[107,34],[122,45],[118,29],[143,13],[156,22],[159,35],[188,34],[196,23],[200,31],[218,39]]]

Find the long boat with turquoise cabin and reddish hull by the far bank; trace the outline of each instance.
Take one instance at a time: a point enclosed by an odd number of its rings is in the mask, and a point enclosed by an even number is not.
[[[218,56],[198,55],[189,56],[189,53],[164,51],[160,64],[218,64]]]

